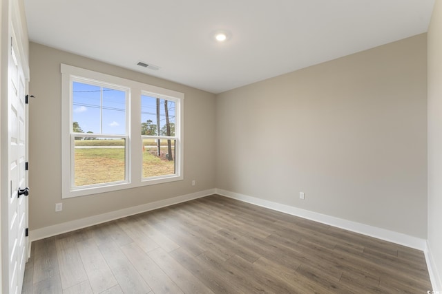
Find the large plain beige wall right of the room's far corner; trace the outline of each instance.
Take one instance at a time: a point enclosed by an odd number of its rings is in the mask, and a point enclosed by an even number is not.
[[[426,57],[421,34],[219,94],[216,187],[426,238]]]

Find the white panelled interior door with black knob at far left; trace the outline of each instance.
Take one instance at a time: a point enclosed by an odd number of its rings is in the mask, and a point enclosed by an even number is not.
[[[15,38],[8,60],[9,293],[21,293],[26,264],[26,80]]]

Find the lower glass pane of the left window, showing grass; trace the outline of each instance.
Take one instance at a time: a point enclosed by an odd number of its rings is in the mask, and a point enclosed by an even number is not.
[[[75,138],[75,187],[126,180],[126,139]]]

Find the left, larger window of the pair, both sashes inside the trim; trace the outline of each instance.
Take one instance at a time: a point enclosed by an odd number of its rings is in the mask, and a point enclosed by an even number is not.
[[[73,188],[127,182],[128,94],[128,89],[72,78]]]

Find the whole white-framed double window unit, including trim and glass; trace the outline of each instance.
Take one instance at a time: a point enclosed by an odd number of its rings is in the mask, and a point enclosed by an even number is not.
[[[61,74],[63,198],[182,180],[184,94],[70,65]]]

